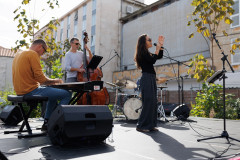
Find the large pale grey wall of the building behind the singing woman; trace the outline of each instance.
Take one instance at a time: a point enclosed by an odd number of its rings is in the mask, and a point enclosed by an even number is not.
[[[124,24],[122,65],[128,66],[128,69],[136,68],[133,56],[137,39],[143,33],[148,34],[153,43],[157,42],[158,35],[164,35],[164,47],[168,50],[169,56],[176,60],[189,60],[196,53],[203,53],[205,57],[209,57],[209,48],[200,34],[195,34],[192,39],[188,38],[190,33],[195,31],[194,26],[187,26],[187,15],[193,9],[191,1],[180,0],[170,3]],[[154,52],[154,47],[151,51]],[[163,58],[157,61],[156,65],[168,63],[169,59]]]

